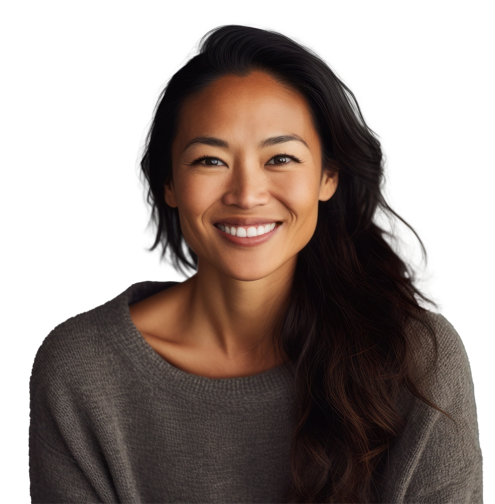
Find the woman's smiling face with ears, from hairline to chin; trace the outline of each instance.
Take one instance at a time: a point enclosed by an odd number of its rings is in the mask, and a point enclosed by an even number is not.
[[[198,272],[208,264],[252,281],[294,267],[315,232],[318,201],[337,188],[321,158],[304,98],[266,74],[221,77],[190,99],[165,201],[178,207]]]

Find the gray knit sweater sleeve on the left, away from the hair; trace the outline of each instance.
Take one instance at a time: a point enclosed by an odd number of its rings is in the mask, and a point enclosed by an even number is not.
[[[29,502],[116,504],[109,468],[86,419],[79,380],[68,359],[60,357],[60,342],[67,347],[69,340],[58,339],[54,335],[54,341],[38,345],[29,372]]]

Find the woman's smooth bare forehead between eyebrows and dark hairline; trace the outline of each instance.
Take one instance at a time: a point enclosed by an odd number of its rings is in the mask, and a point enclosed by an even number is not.
[[[310,107],[302,94],[261,72],[220,77],[183,104],[179,136],[202,135],[205,129],[209,134],[230,135],[287,129],[314,134]]]

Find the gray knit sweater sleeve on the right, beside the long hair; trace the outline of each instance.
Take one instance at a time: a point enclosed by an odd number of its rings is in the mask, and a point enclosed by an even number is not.
[[[444,413],[417,402],[410,423],[411,453],[403,504],[481,504],[482,468],[473,381],[457,331],[437,313],[438,365],[426,396]]]

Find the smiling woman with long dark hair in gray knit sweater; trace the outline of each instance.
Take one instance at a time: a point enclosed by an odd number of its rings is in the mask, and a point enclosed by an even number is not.
[[[141,166],[155,245],[196,272],[48,332],[32,502],[481,502],[464,347],[380,223],[380,143],[321,57],[212,30]]]

